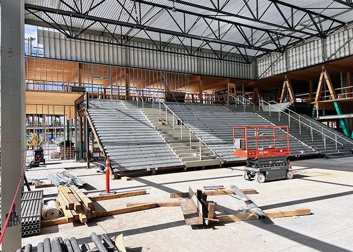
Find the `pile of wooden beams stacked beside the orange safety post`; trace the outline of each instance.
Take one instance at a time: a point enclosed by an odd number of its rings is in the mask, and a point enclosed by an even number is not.
[[[67,222],[81,221],[95,217],[93,202],[75,185],[58,186],[57,201],[60,203]]]

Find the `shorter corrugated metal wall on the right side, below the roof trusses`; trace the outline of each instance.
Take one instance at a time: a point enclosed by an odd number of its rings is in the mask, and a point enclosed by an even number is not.
[[[353,54],[353,27],[296,45],[284,54],[272,53],[257,60],[257,78],[298,70]]]

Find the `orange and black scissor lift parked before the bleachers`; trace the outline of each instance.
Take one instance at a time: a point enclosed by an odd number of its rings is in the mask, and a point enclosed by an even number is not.
[[[293,172],[287,160],[288,126],[247,126],[233,128],[234,157],[247,158],[244,178],[259,183],[291,179]]]

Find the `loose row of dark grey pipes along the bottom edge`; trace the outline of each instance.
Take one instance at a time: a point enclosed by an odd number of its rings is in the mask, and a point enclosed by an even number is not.
[[[90,235],[93,246],[89,246],[88,243],[83,243],[79,245],[75,237],[71,237],[70,239],[62,237],[55,237],[51,240],[49,238],[45,238],[43,242],[39,242],[37,244],[37,249],[32,249],[32,244],[27,244],[23,248],[17,249],[16,252],[32,252],[32,251],[43,251],[43,252],[120,252],[119,248],[117,248],[114,242],[106,235],[102,234],[100,238],[96,233],[91,233]]]

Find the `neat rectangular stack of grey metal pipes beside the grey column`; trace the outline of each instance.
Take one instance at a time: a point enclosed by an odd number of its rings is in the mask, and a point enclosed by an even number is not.
[[[24,192],[21,201],[21,234],[32,235],[40,232],[43,191]]]

